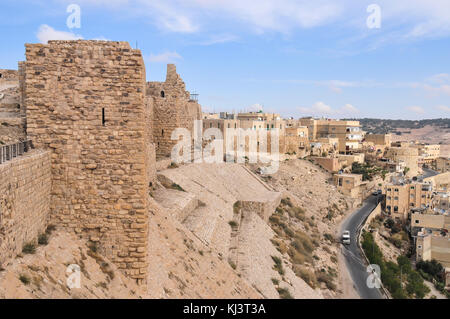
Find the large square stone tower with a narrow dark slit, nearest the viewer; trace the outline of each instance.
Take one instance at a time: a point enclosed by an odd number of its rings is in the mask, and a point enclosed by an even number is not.
[[[27,44],[28,137],[51,150],[51,221],[147,272],[150,118],[141,52],[127,42]]]

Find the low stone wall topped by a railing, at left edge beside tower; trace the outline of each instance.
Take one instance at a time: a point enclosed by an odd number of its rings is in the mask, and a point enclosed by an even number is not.
[[[50,152],[0,165],[0,266],[44,232],[50,212]]]

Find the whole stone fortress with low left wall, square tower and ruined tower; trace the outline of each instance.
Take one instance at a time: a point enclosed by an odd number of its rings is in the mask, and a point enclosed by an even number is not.
[[[172,130],[192,129],[200,105],[174,65],[146,83],[127,42],[27,44],[15,76],[35,149],[0,164],[0,266],[55,224],[145,282],[155,155],[170,154]]]

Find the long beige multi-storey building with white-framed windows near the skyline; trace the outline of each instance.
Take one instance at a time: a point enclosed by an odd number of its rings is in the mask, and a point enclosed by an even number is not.
[[[302,118],[300,124],[308,127],[310,140],[337,138],[339,153],[352,153],[362,150],[364,132],[359,121],[340,121],[331,119]]]

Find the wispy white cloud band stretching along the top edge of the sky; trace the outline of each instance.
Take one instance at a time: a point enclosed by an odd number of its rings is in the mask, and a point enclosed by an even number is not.
[[[60,0],[71,3],[72,0]],[[368,2],[354,0],[78,0],[82,8],[96,5],[130,17],[145,17],[168,32],[195,33],[240,30],[290,33],[297,29],[330,26],[356,29],[355,41],[369,46],[450,35],[448,0],[377,0],[382,28],[366,26]]]

